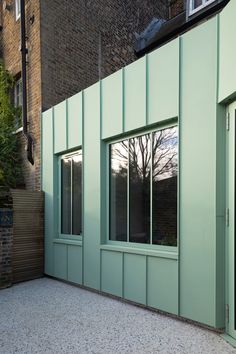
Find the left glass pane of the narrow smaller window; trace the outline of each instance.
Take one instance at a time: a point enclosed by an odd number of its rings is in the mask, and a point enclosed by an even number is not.
[[[71,159],[61,160],[61,232],[71,234]]]

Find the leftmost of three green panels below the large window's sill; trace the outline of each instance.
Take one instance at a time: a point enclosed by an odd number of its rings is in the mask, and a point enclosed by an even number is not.
[[[122,297],[123,255],[119,252],[102,251],[101,290]]]

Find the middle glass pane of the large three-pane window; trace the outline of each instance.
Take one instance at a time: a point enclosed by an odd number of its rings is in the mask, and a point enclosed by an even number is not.
[[[150,242],[150,135],[129,140],[130,242]]]

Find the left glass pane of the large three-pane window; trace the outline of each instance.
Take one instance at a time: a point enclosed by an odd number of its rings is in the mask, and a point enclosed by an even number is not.
[[[110,146],[110,240],[127,241],[128,141]]]

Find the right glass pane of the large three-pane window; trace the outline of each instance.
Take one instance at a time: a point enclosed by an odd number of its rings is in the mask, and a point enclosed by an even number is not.
[[[177,127],[153,133],[152,242],[177,245]]]

